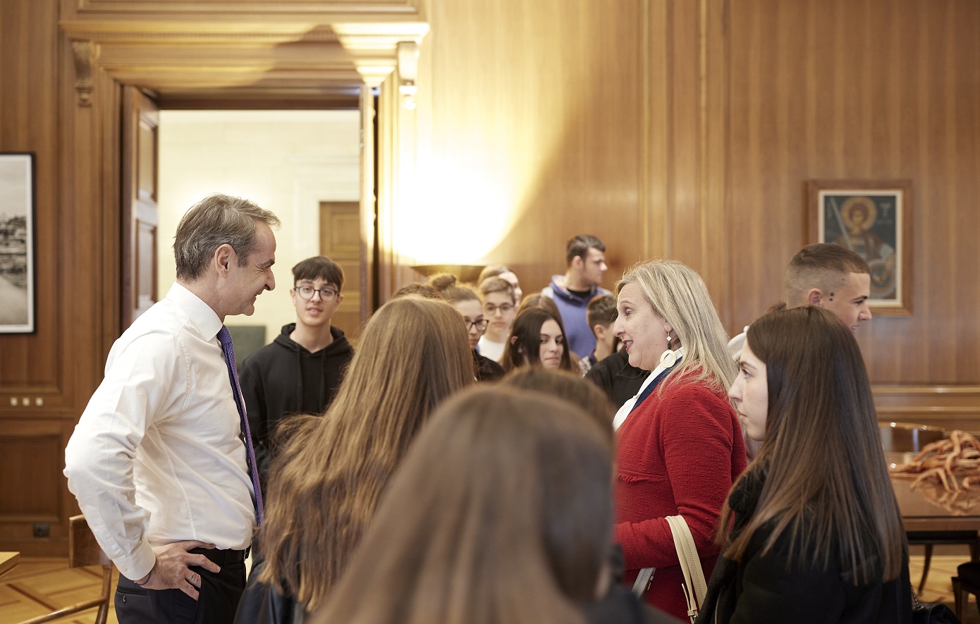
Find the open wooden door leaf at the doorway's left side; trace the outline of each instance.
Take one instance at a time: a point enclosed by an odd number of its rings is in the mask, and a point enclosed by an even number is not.
[[[160,109],[123,86],[122,327],[157,302],[157,156]]]

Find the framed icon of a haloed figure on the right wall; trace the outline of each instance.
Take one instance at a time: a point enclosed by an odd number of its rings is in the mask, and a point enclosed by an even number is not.
[[[909,180],[808,183],[807,242],[841,245],[867,261],[875,314],[912,313],[911,204]]]

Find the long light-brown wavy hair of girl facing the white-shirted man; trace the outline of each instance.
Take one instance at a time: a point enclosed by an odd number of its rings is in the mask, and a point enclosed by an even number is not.
[[[322,417],[294,417],[270,470],[260,581],[307,608],[340,578],[381,491],[432,411],[473,381],[460,312],[406,296],[368,321]]]

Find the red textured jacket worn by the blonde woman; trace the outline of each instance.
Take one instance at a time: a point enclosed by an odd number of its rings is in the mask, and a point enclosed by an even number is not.
[[[707,581],[719,551],[718,514],[745,470],[745,445],[724,391],[683,378],[662,383],[617,431],[614,539],[626,584],[640,568],[656,567],[647,601],[686,621],[684,577],[665,517],[684,516]]]

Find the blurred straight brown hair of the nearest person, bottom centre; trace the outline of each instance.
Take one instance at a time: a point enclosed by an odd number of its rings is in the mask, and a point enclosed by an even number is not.
[[[609,428],[607,426],[607,428]],[[439,408],[314,623],[584,624],[613,522],[609,435],[505,386]]]

